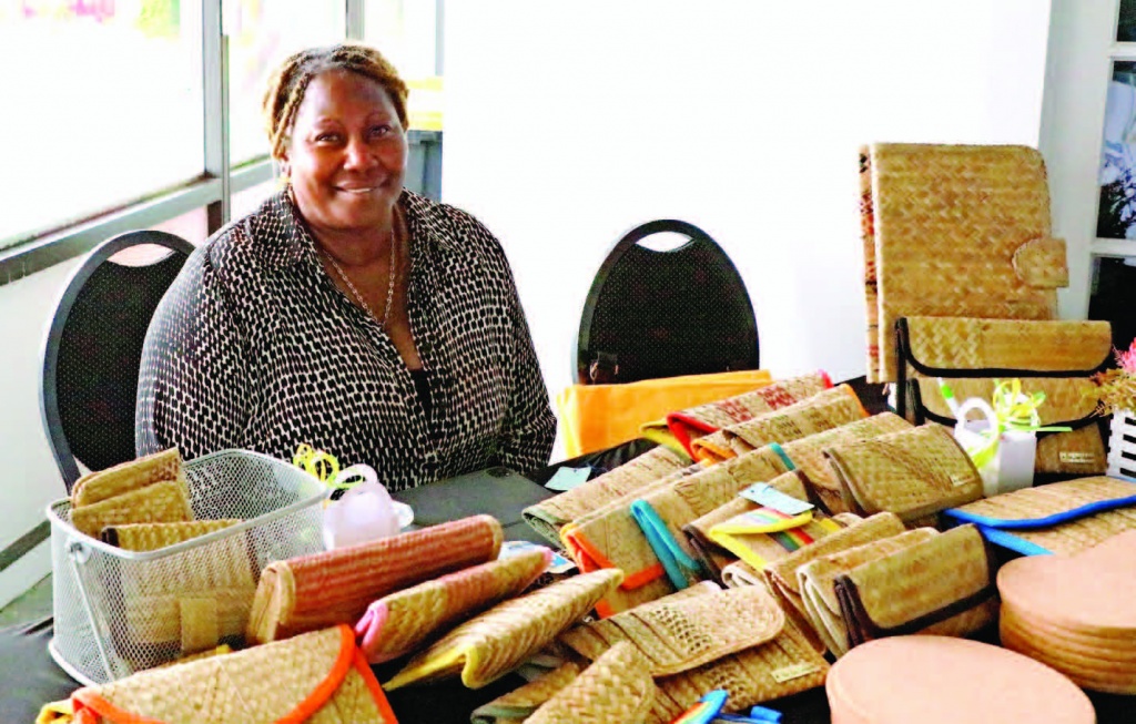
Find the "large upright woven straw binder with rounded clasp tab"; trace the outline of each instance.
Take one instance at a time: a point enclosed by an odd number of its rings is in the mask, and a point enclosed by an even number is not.
[[[869,382],[895,381],[902,317],[1055,317],[1068,271],[1036,150],[874,144],[860,178]]]

